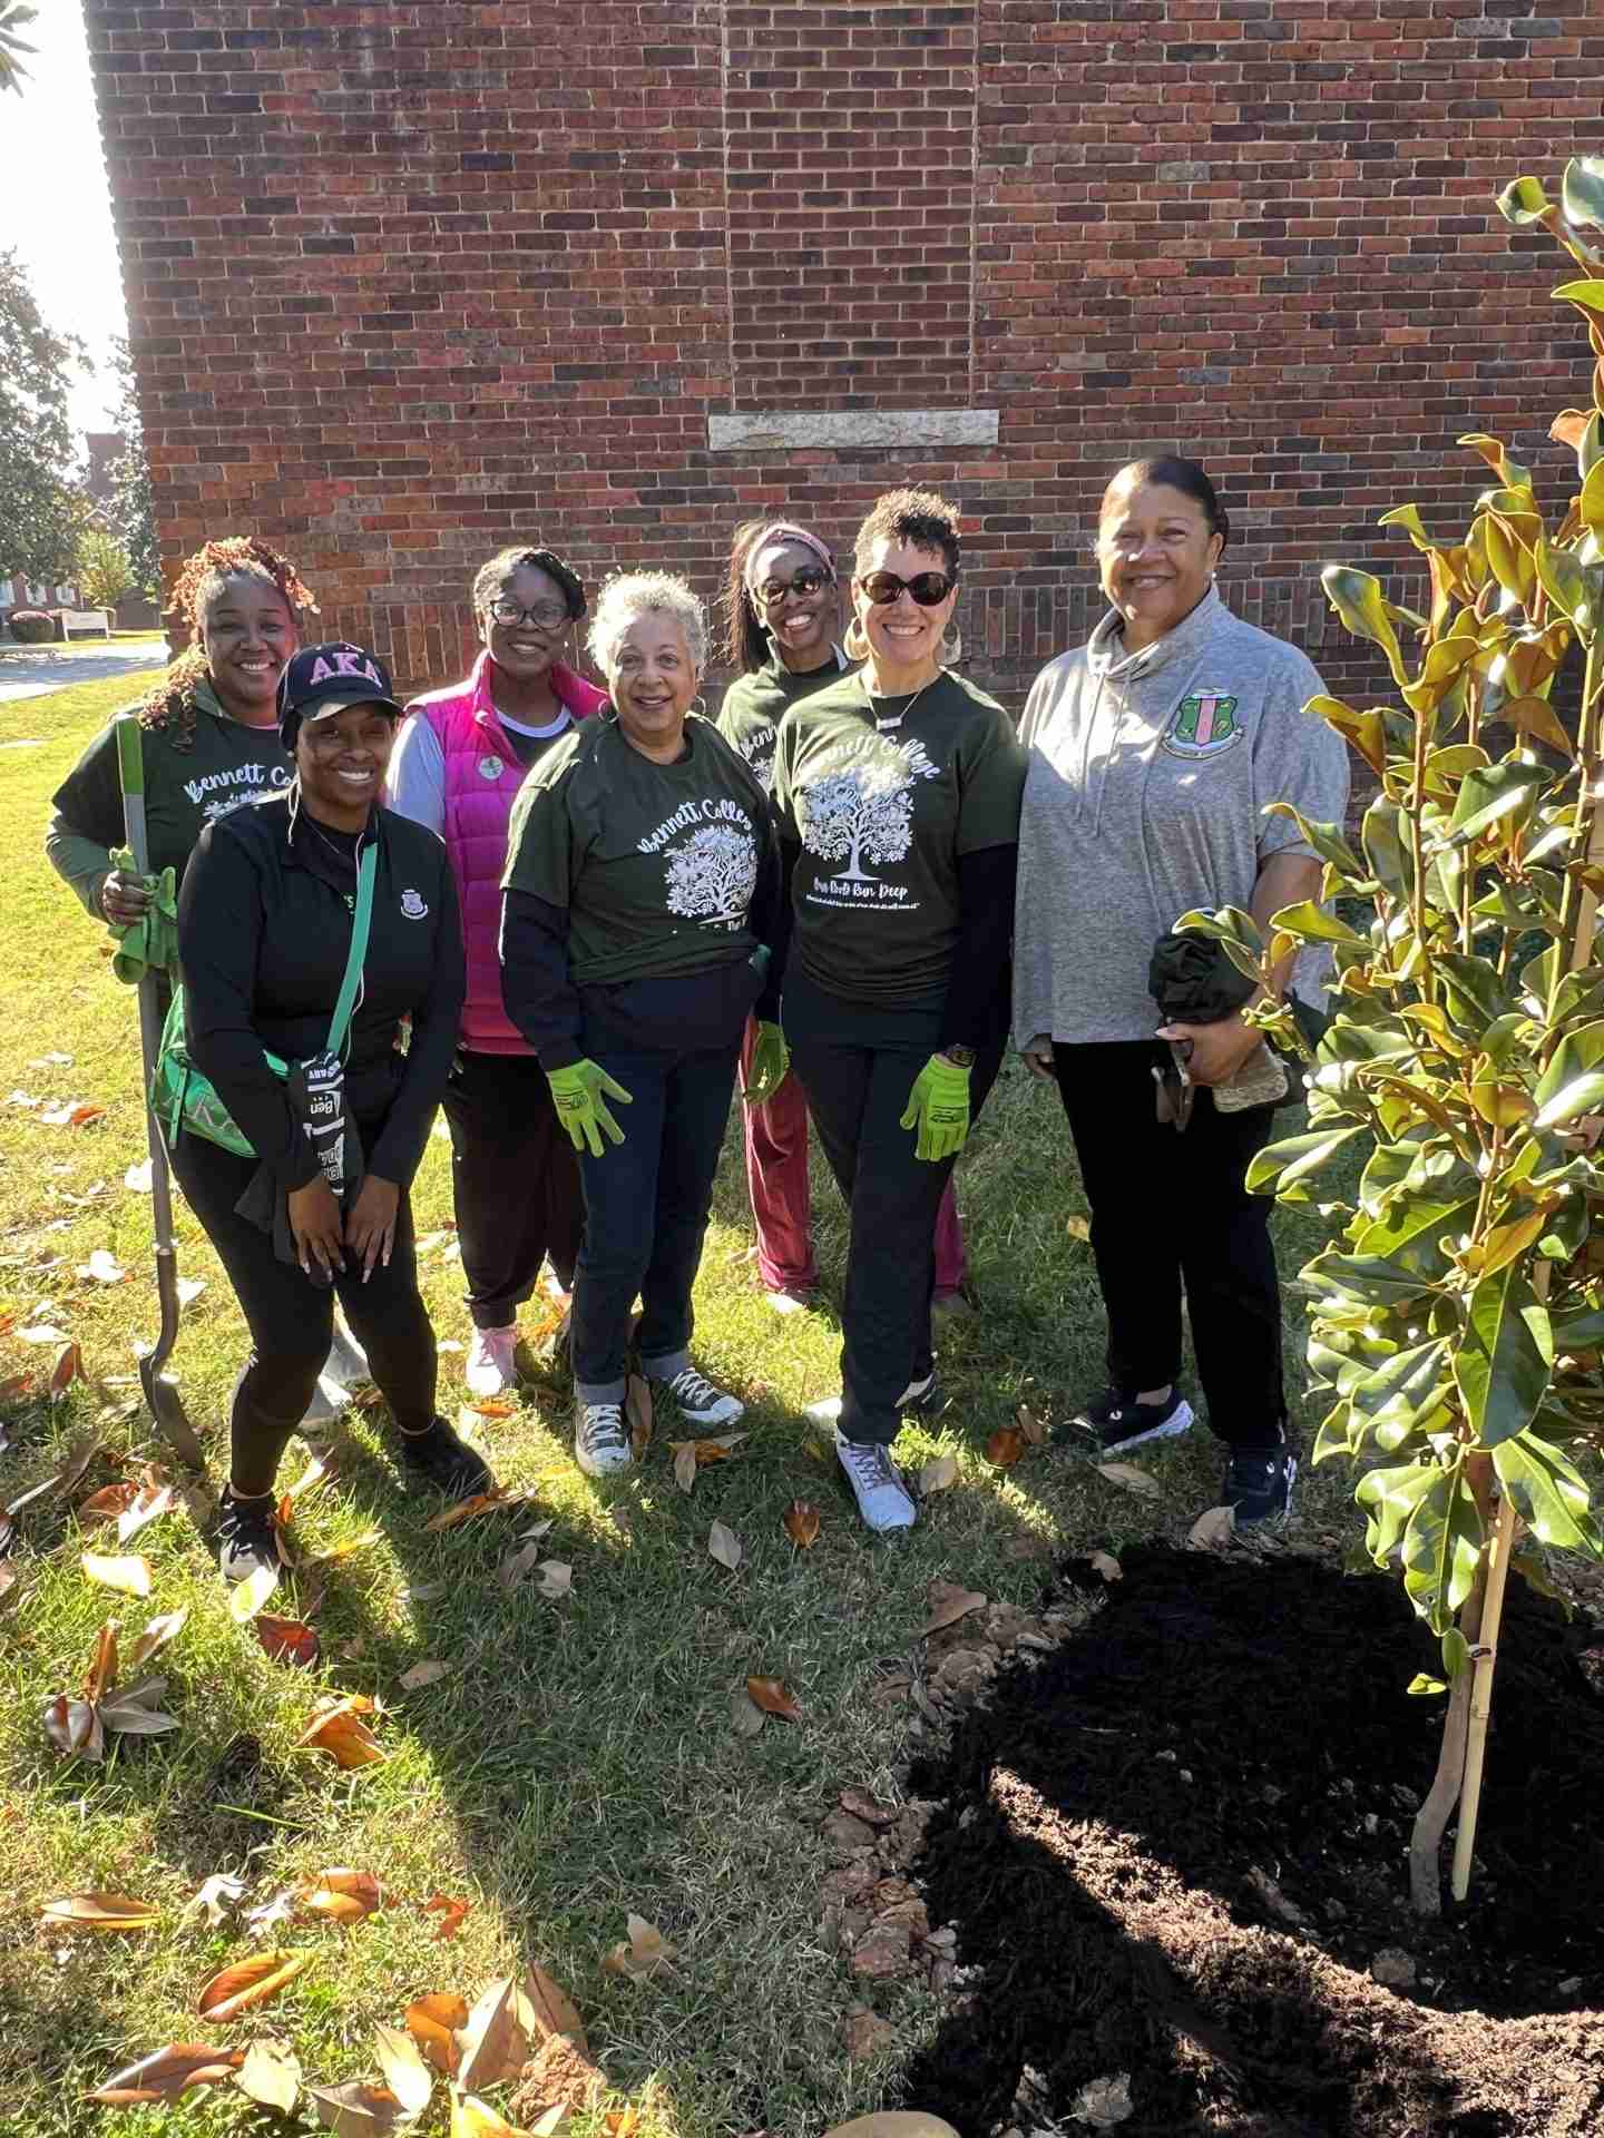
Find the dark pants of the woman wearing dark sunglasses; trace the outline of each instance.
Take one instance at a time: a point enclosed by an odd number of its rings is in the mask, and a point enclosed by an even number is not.
[[[941,1020],[858,1009],[815,988],[796,966],[785,981],[783,1016],[791,1073],[808,1097],[851,1219],[840,1306],[840,1432],[890,1447],[903,1426],[896,1398],[932,1366],[935,1217],[956,1159],[920,1159],[915,1133],[900,1127],[900,1116],[941,1039]],[[1001,1060],[999,1037],[969,1073],[971,1122]]]

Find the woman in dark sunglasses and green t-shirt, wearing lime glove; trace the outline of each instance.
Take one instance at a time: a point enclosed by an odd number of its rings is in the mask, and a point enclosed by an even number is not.
[[[915,1518],[892,1441],[937,1403],[935,1214],[1007,1033],[1024,753],[943,667],[958,549],[943,498],[879,498],[853,554],[847,652],[864,665],[793,706],[774,750],[781,1020],[851,1212],[843,1392],[817,1415],[875,1531]]]

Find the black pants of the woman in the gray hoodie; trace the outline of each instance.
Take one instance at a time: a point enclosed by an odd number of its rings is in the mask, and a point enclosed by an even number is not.
[[[1108,1379],[1125,1394],[1181,1375],[1181,1289],[1208,1424],[1234,1447],[1285,1439],[1281,1287],[1268,1195],[1243,1187],[1275,1107],[1215,1112],[1200,1090],[1176,1135],[1157,1118],[1146,1039],[1054,1045],[1059,1093],[1091,1204],[1108,1311]]]

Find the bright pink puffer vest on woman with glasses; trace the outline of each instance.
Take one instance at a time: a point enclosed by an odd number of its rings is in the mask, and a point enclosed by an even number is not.
[[[575,721],[607,703],[584,676],[552,663],[552,688]],[[445,851],[458,879],[462,947],[468,960],[468,998],[462,1005],[462,1045],[471,1054],[528,1054],[526,1041],[500,1007],[500,872],[507,864],[507,825],[524,768],[518,763],[490,697],[490,654],[483,652],[466,682],[430,691],[408,708],[430,723],[445,755]]]

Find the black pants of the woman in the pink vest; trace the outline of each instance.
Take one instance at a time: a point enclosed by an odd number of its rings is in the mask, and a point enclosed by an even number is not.
[[[443,1099],[468,1313],[505,1330],[550,1255],[573,1289],[584,1227],[580,1161],[533,1054],[458,1056]]]

